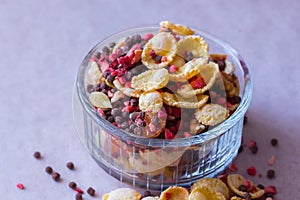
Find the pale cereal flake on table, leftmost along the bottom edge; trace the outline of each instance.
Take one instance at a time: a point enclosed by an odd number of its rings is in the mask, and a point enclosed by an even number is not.
[[[140,200],[142,195],[131,188],[118,188],[105,194],[102,200]]]

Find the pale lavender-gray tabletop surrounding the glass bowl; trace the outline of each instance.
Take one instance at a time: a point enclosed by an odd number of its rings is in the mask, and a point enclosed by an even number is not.
[[[85,54],[126,28],[170,20],[206,30],[229,42],[251,68],[254,93],[244,141],[258,142],[235,161],[239,173],[254,165],[275,185],[276,199],[300,198],[300,3],[233,1],[15,1],[0,0],[0,194],[3,199],[74,199],[67,186],[92,186],[99,199],[118,187],[88,155],[72,119],[72,88]],[[274,148],[270,140],[277,138]],[[42,160],[35,160],[39,150]],[[275,155],[276,163],[267,160]],[[73,161],[75,171],[65,167]],[[54,182],[51,165],[62,175]],[[268,169],[276,177],[268,180]],[[23,183],[25,190],[16,188]],[[297,198],[298,197],[298,198]],[[85,195],[85,199],[94,199]]]

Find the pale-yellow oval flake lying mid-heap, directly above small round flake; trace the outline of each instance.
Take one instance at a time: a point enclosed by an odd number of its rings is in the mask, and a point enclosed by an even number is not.
[[[166,86],[169,82],[169,72],[166,69],[153,69],[134,76],[131,87],[145,92],[154,91]]]

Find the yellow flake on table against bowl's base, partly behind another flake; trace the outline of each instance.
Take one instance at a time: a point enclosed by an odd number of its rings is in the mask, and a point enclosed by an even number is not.
[[[191,191],[196,188],[209,188],[212,192],[219,192],[229,199],[229,190],[224,182],[217,178],[203,178],[194,183]]]

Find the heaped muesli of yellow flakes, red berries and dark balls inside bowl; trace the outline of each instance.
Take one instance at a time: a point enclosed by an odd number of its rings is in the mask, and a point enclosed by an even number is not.
[[[205,39],[168,21],[94,53],[86,90],[99,115],[142,137],[190,137],[226,120],[241,97],[234,66]],[[184,122],[182,119],[185,119]]]

